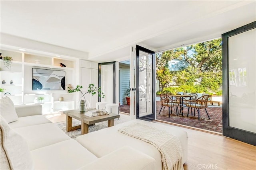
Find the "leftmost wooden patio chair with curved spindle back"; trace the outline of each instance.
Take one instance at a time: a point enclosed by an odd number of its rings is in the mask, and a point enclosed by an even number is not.
[[[180,100],[173,100],[170,96],[168,96],[167,94],[160,94],[160,102],[161,102],[161,109],[158,113],[158,115],[160,115],[160,112],[162,111],[162,108],[164,106],[164,108],[167,106],[169,109],[169,117],[170,117],[170,111],[172,114],[172,107],[176,107],[176,114],[178,116],[178,106],[180,106]]]

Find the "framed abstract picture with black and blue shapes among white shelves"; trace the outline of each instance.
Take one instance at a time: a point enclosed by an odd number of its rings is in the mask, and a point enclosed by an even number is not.
[[[65,90],[65,71],[32,68],[32,90]]]

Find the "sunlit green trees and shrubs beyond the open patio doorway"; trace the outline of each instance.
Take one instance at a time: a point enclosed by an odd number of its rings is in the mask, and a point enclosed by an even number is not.
[[[170,71],[168,64],[172,59],[187,64],[176,64],[178,71]],[[221,39],[164,51],[156,55],[156,78],[163,91],[170,93],[217,92],[222,86],[221,60]],[[168,88],[170,85],[179,88]]]

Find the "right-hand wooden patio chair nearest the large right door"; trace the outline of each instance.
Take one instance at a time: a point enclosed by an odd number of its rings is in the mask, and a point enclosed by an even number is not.
[[[208,112],[206,110],[207,103],[208,103],[208,97],[209,97],[209,95],[204,95],[196,100],[187,100],[186,101],[186,106],[188,107],[188,112],[189,112],[190,107],[191,107],[191,110],[192,110],[192,108],[194,108],[194,116],[195,116],[195,112],[196,111],[198,112],[198,120],[200,119],[200,109],[205,109],[205,111],[208,115]],[[196,109],[196,111],[195,111],[195,109]],[[187,117],[188,117],[188,114],[187,114]],[[209,115],[208,115],[208,118],[210,119]]]

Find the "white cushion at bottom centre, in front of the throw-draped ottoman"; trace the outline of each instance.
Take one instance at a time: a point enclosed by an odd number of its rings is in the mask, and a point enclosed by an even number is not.
[[[154,158],[132,147],[122,147],[87,164],[81,170],[153,170]]]

